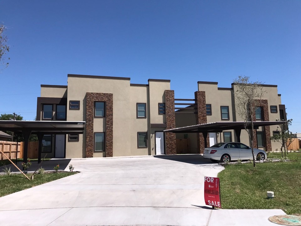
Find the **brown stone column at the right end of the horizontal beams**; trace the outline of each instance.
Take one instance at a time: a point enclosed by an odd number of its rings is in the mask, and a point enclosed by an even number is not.
[[[207,123],[206,115],[206,94],[205,91],[194,92],[195,105],[197,107],[196,124]],[[204,153],[204,137],[203,133],[197,133],[198,153]],[[209,145],[209,134],[207,135],[207,145]]]

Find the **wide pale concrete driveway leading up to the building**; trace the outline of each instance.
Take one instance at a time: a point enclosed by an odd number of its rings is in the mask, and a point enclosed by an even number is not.
[[[223,167],[201,155],[60,161],[81,173],[1,197],[1,225],[275,225],[267,218],[284,214],[206,207],[204,176]]]

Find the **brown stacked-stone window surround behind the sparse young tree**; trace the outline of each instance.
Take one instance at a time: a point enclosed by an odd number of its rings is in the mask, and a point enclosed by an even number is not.
[[[256,100],[256,106],[262,107],[263,110],[263,121],[270,121],[269,117],[269,108],[268,108],[268,102],[267,100]],[[253,121],[256,121],[256,114],[255,111],[253,113]],[[272,143],[270,140],[271,137],[271,130],[270,126],[264,126],[264,134],[265,134],[265,143],[266,143],[266,151],[272,151]],[[253,147],[258,148],[257,146],[257,136],[256,136],[256,130],[254,130],[254,138],[253,138]]]

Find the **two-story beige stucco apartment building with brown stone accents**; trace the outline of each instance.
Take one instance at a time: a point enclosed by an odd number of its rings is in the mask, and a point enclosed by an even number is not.
[[[277,86],[265,85],[258,120],[274,121],[285,116]],[[135,156],[202,153],[202,135],[163,133],[166,129],[216,121],[239,121],[231,88],[216,82],[198,82],[195,98],[175,108],[170,80],[149,79],[148,84],[132,84],[130,78],[68,74],[68,85],[41,85],[37,100],[37,120],[86,121],[83,134],[46,134],[42,155],[52,158]],[[186,102],[187,102],[186,101]],[[266,101],[266,102],[265,102]],[[181,102],[181,101],[180,101]],[[180,104],[180,103],[179,103]],[[184,107],[183,107],[184,106]],[[268,106],[268,107],[267,107]],[[176,109],[176,111],[175,111]],[[184,110],[183,110],[184,109]],[[261,117],[261,118],[259,118]],[[269,136],[277,126],[257,130],[259,148],[275,149]],[[233,131],[209,134],[211,143],[235,141]],[[189,143],[180,148],[181,142]],[[241,142],[249,144],[246,132]],[[178,149],[178,150],[177,150]],[[180,150],[181,149],[181,150]]]

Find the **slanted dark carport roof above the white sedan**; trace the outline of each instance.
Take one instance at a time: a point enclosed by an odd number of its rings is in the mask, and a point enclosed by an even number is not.
[[[251,122],[247,122],[249,125],[247,129],[251,129]],[[254,129],[258,129],[259,126],[272,126],[284,124],[285,121],[253,121]],[[185,126],[174,129],[164,130],[164,132],[173,133],[194,133],[194,132],[221,132],[224,130],[241,130],[245,129],[245,122],[210,122],[195,126]]]

